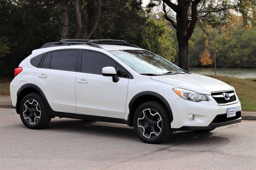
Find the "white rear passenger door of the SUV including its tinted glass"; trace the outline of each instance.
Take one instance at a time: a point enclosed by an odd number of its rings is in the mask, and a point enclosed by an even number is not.
[[[78,50],[52,51],[35,71],[35,82],[55,111],[76,112]]]

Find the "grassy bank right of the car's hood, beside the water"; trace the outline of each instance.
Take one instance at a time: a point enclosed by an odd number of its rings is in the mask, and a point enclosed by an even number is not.
[[[220,75],[207,75],[229,85],[232,85],[239,97],[243,111],[256,112],[256,82],[255,79],[240,79]]]

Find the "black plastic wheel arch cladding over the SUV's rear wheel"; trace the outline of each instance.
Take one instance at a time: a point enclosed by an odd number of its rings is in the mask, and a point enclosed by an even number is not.
[[[21,100],[28,94],[30,93],[39,93],[45,103],[46,108],[51,108],[49,103],[47,102],[47,99],[44,95],[44,93],[42,92],[42,90],[34,84],[28,83],[25,85],[22,85],[19,90],[17,91],[17,103],[16,103],[16,112],[17,114],[19,114],[19,106],[20,106],[20,102]]]

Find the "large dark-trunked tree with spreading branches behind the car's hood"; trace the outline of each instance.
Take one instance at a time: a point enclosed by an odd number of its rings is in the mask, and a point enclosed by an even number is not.
[[[253,0],[248,0],[255,2]],[[164,18],[177,30],[179,45],[179,66],[189,71],[189,39],[192,36],[196,23],[199,25],[221,25],[231,14],[229,9],[240,9],[238,12],[246,13],[246,6],[241,1],[226,0],[163,0]],[[253,4],[253,3],[252,3]],[[166,5],[169,7],[167,9]],[[152,6],[152,3],[149,5]],[[250,6],[250,5],[249,5]],[[252,11],[254,6],[250,6]]]

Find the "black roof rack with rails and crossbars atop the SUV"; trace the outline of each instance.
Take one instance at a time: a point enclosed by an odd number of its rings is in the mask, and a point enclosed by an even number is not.
[[[108,44],[108,45],[124,45],[130,47],[140,48],[137,45],[129,44],[123,40],[111,40],[111,39],[102,39],[102,40],[87,40],[87,39],[63,39],[59,42],[51,42],[42,45],[40,48],[53,47],[53,46],[65,46],[71,44],[86,44],[91,45],[97,48],[102,48],[99,44]]]

